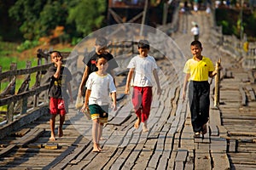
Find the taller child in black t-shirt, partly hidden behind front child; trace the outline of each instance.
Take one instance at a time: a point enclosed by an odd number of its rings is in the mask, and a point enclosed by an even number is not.
[[[90,73],[98,70],[98,68],[96,67],[96,59],[99,56],[103,56],[108,60],[107,72],[112,77],[114,76],[113,69],[117,68],[119,65],[117,64],[116,60],[113,59],[113,55],[108,52],[107,47],[108,47],[108,40],[105,37],[96,37],[95,50],[90,52],[88,56],[84,56],[83,62],[85,64],[85,68],[84,68],[84,74],[83,74],[82,80],[79,85],[79,94],[78,94],[79,97],[84,96],[84,92],[85,92],[84,86]]]

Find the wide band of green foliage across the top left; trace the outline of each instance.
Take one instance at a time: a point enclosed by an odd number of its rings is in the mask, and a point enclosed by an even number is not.
[[[20,23],[27,40],[51,35],[57,26],[64,26],[69,35],[87,35],[100,28],[105,18],[106,0],[17,0],[9,15]]]

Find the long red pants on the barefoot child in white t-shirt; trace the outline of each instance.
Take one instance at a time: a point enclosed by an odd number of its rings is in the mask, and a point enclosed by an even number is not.
[[[152,87],[134,87],[132,94],[132,104],[137,117],[142,118],[142,122],[148,120],[152,103]]]

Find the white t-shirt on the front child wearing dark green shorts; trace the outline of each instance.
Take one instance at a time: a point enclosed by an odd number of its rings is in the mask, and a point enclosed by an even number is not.
[[[113,77],[110,74],[101,77],[96,72],[90,73],[86,88],[91,90],[89,105],[108,105],[110,103],[109,93],[116,92]]]

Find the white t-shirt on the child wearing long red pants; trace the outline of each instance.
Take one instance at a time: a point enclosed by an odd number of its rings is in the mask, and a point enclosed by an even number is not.
[[[128,69],[134,68],[133,79],[131,86],[137,87],[152,87],[153,86],[153,71],[157,69],[154,57],[140,57],[136,55],[129,62]]]

